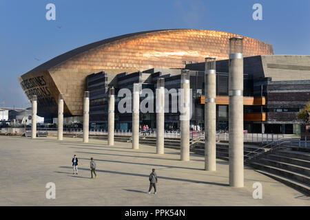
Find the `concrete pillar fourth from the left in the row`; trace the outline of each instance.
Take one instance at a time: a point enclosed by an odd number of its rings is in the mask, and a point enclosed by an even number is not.
[[[114,88],[109,89],[109,104],[108,104],[108,113],[107,113],[107,144],[110,146],[114,145]]]

